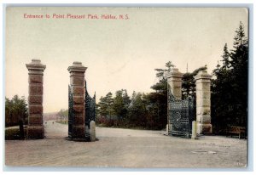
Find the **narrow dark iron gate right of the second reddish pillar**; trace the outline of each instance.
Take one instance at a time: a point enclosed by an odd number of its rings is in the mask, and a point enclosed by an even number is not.
[[[90,139],[90,121],[95,121],[96,116],[96,93],[93,98],[90,97],[87,91],[87,85],[85,81],[85,104],[84,104],[84,125],[85,125],[85,138]]]

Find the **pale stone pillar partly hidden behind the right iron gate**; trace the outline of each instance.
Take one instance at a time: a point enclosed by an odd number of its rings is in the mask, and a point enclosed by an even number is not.
[[[168,85],[168,91],[172,93],[172,95],[176,99],[182,99],[182,77],[183,73],[179,72],[177,68],[173,68],[171,72],[169,72],[167,75],[167,85]],[[166,132],[169,134],[172,131],[172,124],[170,119],[170,110],[172,108],[171,103],[169,103],[169,95],[167,95],[168,98],[168,110],[167,110],[167,125]]]

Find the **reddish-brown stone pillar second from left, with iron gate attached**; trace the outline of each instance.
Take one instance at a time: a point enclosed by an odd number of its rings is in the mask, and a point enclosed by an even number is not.
[[[72,138],[85,138],[84,131],[84,67],[81,62],[73,62],[73,65],[67,68],[70,73],[71,93],[73,93],[73,127],[71,130]],[[70,126],[69,126],[70,127]]]

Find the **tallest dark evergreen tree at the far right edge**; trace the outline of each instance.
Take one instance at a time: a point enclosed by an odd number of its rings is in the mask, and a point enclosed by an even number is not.
[[[230,51],[230,74],[232,83],[232,110],[236,114],[235,122],[247,126],[248,95],[248,42],[244,26],[240,22],[234,38],[234,49]]]

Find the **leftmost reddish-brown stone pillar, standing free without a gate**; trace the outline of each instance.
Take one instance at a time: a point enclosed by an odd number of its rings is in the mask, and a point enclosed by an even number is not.
[[[28,127],[27,138],[44,138],[43,124],[43,76],[45,65],[39,59],[26,64],[28,70]]]

